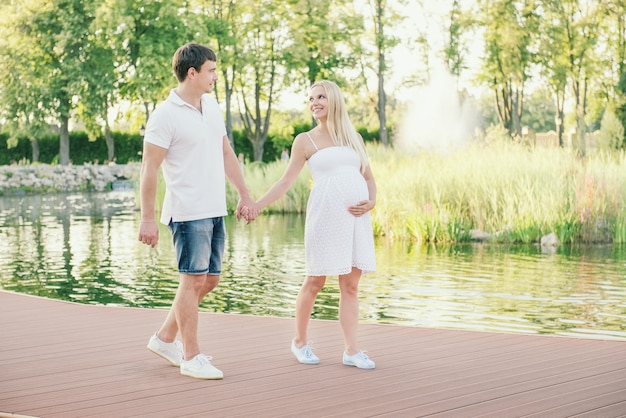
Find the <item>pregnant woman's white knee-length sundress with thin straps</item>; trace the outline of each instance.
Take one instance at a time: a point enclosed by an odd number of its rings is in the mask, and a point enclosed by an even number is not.
[[[308,136],[317,151],[308,160],[314,184],[304,229],[307,275],[338,276],[352,267],[376,271],[370,213],[348,212],[348,206],[369,199],[359,155],[347,146],[318,149]]]

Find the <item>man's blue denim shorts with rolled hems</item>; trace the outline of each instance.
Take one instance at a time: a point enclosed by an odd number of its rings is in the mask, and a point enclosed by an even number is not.
[[[217,275],[222,272],[224,218],[170,221],[169,228],[180,273]]]

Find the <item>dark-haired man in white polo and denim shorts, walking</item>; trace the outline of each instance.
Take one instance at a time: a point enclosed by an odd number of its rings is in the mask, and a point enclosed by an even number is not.
[[[148,121],[141,165],[139,240],[154,247],[159,240],[155,219],[158,170],[166,184],[160,221],[168,225],[176,250],[180,282],[172,307],[148,349],[180,373],[199,379],[222,379],[223,373],[201,354],[198,304],[220,280],[224,253],[226,179],[239,193],[236,215],[255,207],[239,162],[230,147],[222,112],[209,96],[217,81],[217,57],[196,43],[180,47],[172,69],[178,87]],[[247,215],[247,213],[246,213]],[[246,217],[248,222],[254,216]],[[182,344],[176,340],[180,332]]]

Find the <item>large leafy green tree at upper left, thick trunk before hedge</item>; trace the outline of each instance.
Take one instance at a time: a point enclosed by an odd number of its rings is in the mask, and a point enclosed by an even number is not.
[[[31,128],[38,131],[41,121],[58,123],[59,163],[63,165],[70,161],[69,120],[93,59],[87,46],[94,7],[81,0],[31,0],[6,9],[15,29],[12,45],[26,47],[10,61],[16,67],[31,67],[14,75],[20,97],[9,105],[11,117],[15,126],[31,135]],[[32,99],[33,104],[25,104]]]

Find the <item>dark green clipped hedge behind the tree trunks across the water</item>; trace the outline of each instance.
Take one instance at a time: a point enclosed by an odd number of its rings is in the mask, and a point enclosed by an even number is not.
[[[299,124],[294,126],[294,137],[300,132],[311,129],[310,124]],[[363,140],[377,141],[378,131],[368,131],[365,128],[358,129]],[[235,152],[243,153],[248,161],[253,160],[252,143],[245,136],[243,130],[233,131],[235,141]],[[9,165],[21,160],[32,162],[32,147],[27,138],[20,138],[17,146],[8,148],[8,135],[0,133],[0,165]],[[138,134],[114,132],[115,158],[117,163],[126,164],[132,161],[141,161],[142,137]],[[293,137],[270,135],[265,143],[263,161],[269,162],[280,158],[283,148],[291,147]],[[46,135],[39,138],[39,162],[44,164],[55,164],[59,160],[59,135]],[[98,162],[102,164],[107,160],[107,148],[104,138],[90,141],[84,132],[70,132],[70,159],[73,164],[84,164],[85,162]]]

